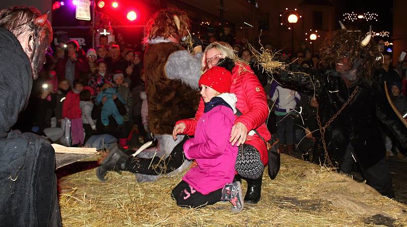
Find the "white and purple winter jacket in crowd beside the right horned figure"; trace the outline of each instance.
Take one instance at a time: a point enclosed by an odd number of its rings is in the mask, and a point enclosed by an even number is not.
[[[301,97],[298,92],[277,86],[271,100],[276,105],[275,111],[288,113],[296,108],[297,103],[300,101]]]

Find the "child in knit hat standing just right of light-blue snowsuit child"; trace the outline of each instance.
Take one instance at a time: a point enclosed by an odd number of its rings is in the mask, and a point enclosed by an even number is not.
[[[133,97],[131,95],[130,89],[126,87],[123,83],[124,75],[123,73],[119,72],[113,75],[114,83],[116,84],[117,92],[123,97],[126,105],[126,114],[122,115],[123,121],[125,124],[125,129],[122,130],[122,134],[119,138],[119,145],[123,148],[127,148],[127,137],[133,127],[131,120],[132,116],[132,108],[133,108]]]

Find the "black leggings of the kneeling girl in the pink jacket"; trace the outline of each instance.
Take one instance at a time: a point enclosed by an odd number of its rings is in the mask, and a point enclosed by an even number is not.
[[[189,186],[187,182],[181,181],[172,189],[171,197],[177,201],[177,205],[180,207],[203,207],[219,202],[222,197],[222,189],[203,195]]]

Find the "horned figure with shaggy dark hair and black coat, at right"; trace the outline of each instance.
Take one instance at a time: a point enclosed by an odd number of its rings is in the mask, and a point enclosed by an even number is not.
[[[308,95],[316,95],[319,103],[319,117],[324,125],[342,108],[345,102],[355,96],[343,111],[325,127],[325,142],[330,163],[339,167],[346,152],[352,152],[362,171],[376,168],[376,179],[368,179],[366,183],[383,195],[394,196],[391,186],[385,147],[381,135],[380,124],[389,128],[403,145],[407,145],[407,128],[400,122],[390,108],[384,89],[374,74],[380,65],[376,58],[380,53],[372,41],[363,46],[359,33],[345,29],[334,32],[321,47],[322,61],[336,70],[324,69],[319,72],[307,69],[293,69],[304,73],[281,72],[278,81],[289,88]],[[348,58],[348,69],[337,72],[343,67],[341,61]],[[358,89],[357,91],[355,91]],[[321,143],[321,141],[319,141]],[[352,149],[349,149],[349,148]],[[324,153],[323,145],[319,148]],[[381,169],[381,170],[380,170]],[[378,171],[379,170],[379,171]],[[383,176],[379,176],[383,174]],[[383,177],[386,182],[372,183]]]

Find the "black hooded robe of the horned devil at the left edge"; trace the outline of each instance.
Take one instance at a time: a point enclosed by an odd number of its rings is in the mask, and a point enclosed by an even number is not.
[[[48,226],[55,153],[33,133],[11,131],[33,86],[30,60],[17,38],[0,28],[0,225]]]

